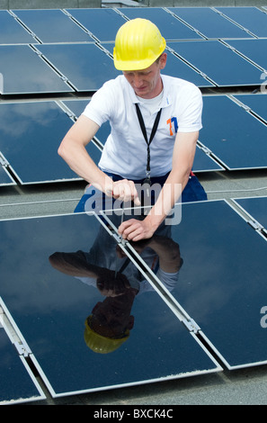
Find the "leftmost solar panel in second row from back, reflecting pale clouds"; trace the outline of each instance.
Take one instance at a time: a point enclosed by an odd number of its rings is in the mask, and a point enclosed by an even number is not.
[[[70,93],[73,89],[27,45],[0,46],[0,94]],[[1,88],[1,86],[0,86]]]

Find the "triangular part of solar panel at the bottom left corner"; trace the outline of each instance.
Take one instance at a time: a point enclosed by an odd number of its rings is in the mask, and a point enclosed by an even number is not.
[[[11,344],[4,329],[0,327],[0,405],[36,401],[44,398],[40,395],[21,359]]]

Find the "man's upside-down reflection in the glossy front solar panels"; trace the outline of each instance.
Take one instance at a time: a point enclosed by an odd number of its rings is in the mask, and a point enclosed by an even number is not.
[[[161,235],[131,245],[172,291],[178,280],[182,258],[179,245],[167,236],[170,227],[161,231]],[[101,354],[119,348],[129,338],[129,331],[134,326],[131,309],[136,296],[154,291],[138,267],[102,225],[89,252],[56,252],[49,257],[49,262],[58,271],[94,286],[106,297],[97,302],[85,320],[86,345]]]

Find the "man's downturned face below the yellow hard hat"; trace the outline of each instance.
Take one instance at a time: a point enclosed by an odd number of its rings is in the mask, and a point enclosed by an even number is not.
[[[162,91],[160,70],[165,67],[166,53],[163,53],[158,61],[147,69],[123,71],[123,75],[134,89],[135,93],[142,98],[154,98]]]

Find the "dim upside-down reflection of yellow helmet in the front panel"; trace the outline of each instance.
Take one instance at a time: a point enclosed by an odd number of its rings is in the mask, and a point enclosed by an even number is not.
[[[129,330],[125,331],[123,338],[107,338],[96,333],[90,328],[88,320],[90,321],[91,316],[85,320],[85,344],[87,347],[92,349],[94,353],[108,354],[119,348],[123,342],[129,338]]]

